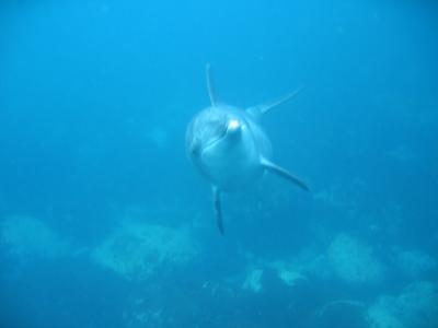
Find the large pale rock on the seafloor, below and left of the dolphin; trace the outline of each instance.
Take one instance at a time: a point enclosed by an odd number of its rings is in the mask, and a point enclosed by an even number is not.
[[[139,281],[160,269],[186,265],[198,254],[198,245],[185,230],[129,223],[97,246],[92,258],[128,280]]]

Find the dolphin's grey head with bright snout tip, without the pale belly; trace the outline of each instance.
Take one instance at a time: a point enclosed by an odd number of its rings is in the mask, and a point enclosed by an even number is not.
[[[200,112],[188,125],[186,150],[194,162],[203,157],[231,150],[239,143],[245,122],[238,116],[215,107]],[[226,155],[226,153],[223,153]]]

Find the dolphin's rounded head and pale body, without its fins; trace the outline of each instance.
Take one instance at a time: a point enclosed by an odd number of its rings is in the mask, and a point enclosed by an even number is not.
[[[214,186],[239,189],[263,173],[260,150],[264,136],[258,130],[244,110],[209,107],[188,125],[187,155]]]

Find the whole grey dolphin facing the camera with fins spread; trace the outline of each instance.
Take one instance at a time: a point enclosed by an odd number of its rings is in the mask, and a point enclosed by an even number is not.
[[[270,141],[260,125],[264,114],[293,98],[300,89],[277,101],[243,109],[219,103],[209,65],[206,74],[210,106],[188,124],[185,145],[189,160],[212,186],[216,222],[223,235],[221,192],[250,186],[265,172],[309,190],[301,179],[272,162]]]

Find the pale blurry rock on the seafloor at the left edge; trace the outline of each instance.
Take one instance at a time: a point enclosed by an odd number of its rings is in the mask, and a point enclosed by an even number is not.
[[[43,221],[26,215],[10,215],[0,222],[1,244],[21,259],[56,258],[70,251],[68,242]]]

